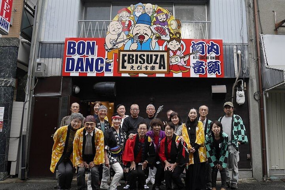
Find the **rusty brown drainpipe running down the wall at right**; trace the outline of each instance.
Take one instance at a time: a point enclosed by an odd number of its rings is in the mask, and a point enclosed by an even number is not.
[[[260,46],[259,46],[259,32],[257,22],[257,1],[253,0],[254,5],[254,21],[255,21],[255,35],[256,35],[256,47],[257,47],[257,63],[258,63],[258,82],[259,82],[259,93],[260,93],[260,120],[261,120],[261,136],[262,136],[262,175],[263,180],[266,181],[267,175],[267,161],[266,161],[266,143],[265,143],[265,124],[264,124],[264,103],[262,96],[262,77],[261,77],[261,62],[260,62]]]

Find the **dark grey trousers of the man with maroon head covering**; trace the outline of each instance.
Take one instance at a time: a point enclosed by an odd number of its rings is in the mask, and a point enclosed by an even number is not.
[[[99,165],[95,165],[90,169],[91,172],[91,187],[92,190],[99,189]],[[85,189],[85,168],[78,167],[77,168],[77,185],[78,189]]]

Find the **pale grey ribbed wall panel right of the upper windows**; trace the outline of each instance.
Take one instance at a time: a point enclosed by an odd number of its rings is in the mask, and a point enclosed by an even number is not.
[[[247,43],[245,0],[211,0],[210,38],[223,39],[224,43]]]

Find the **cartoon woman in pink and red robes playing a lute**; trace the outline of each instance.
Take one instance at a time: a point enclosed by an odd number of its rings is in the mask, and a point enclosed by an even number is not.
[[[183,52],[185,51],[185,47],[184,50],[181,50],[180,37],[180,32],[176,32],[175,34],[170,32],[170,40],[169,42],[166,42],[167,51],[169,51],[170,56],[169,70],[173,73],[185,73],[190,70],[190,66],[186,66],[186,61],[189,59],[189,54],[184,56]]]

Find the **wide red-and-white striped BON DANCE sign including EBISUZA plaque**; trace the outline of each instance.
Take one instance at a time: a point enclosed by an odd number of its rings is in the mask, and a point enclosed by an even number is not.
[[[104,43],[104,38],[66,38],[62,76],[224,77],[222,40],[182,39],[180,55],[166,51],[168,42],[161,40],[161,51],[119,50],[113,62],[106,61]]]

